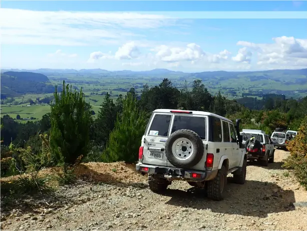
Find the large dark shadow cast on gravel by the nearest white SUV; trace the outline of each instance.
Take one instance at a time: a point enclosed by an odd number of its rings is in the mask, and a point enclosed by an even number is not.
[[[229,178],[229,181],[231,179]],[[282,212],[295,209],[294,192],[282,190],[272,182],[246,180],[243,185],[227,184],[225,198],[213,201],[205,197],[205,191],[195,187],[183,191],[168,189],[165,193],[170,196],[166,203],[197,209],[210,209],[212,212],[238,214],[244,216],[267,217],[268,213]]]

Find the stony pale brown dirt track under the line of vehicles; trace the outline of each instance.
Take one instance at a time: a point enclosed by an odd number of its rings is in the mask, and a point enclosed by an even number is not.
[[[3,205],[1,226],[3,230],[307,230],[307,192],[282,169],[287,154],[276,150],[275,162],[268,167],[249,164],[246,183],[229,182],[226,198],[218,202],[181,181],[170,185],[166,194],[155,194],[146,177],[135,175],[129,166],[99,168],[103,174],[98,172],[100,163],[91,163],[97,166],[86,174],[88,180],[127,177],[130,182],[80,180],[45,196],[49,205],[41,197],[15,201],[15,209]]]

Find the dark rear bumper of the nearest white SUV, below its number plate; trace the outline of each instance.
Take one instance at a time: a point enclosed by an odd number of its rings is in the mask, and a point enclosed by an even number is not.
[[[148,171],[145,171],[144,168],[148,168]],[[159,178],[166,178],[171,180],[181,179],[186,181],[211,180],[216,176],[218,171],[218,169],[210,171],[199,171],[192,169],[143,164],[141,162],[136,164],[136,170],[139,172],[154,174]],[[192,173],[196,173],[197,177],[192,177]]]

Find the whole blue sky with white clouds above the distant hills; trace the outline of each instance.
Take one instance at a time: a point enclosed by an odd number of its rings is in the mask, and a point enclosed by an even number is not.
[[[1,67],[304,68],[306,11],[307,1],[2,1]]]

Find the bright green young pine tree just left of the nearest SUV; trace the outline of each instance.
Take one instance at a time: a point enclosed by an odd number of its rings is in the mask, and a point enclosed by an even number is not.
[[[136,98],[130,93],[124,100],[122,118],[117,116],[114,130],[110,133],[106,150],[102,154],[104,161],[136,161],[140,140],[146,128],[145,112],[140,112]]]

